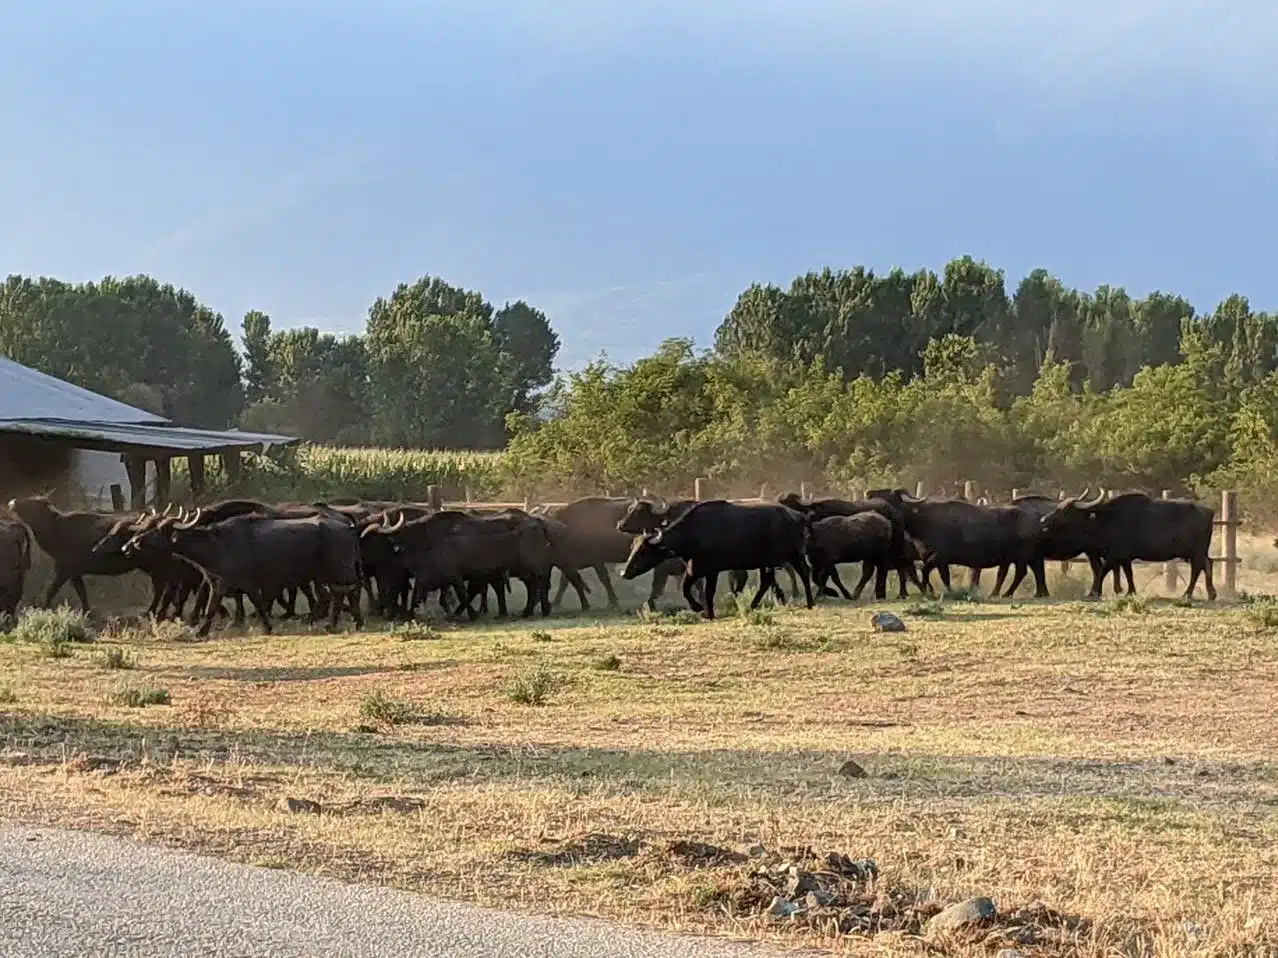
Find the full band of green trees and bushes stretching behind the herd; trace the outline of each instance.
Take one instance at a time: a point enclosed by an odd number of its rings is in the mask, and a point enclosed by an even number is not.
[[[555,376],[523,301],[424,276],[335,336],[222,317],[151,277],[9,277],[0,351],[193,425],[314,442],[507,448],[528,489],[863,487],[975,479],[1194,489],[1275,474],[1278,317],[1240,295],[1084,293],[1036,270],[1008,289],[962,257],[751,285],[713,347]],[[1278,480],[1275,480],[1278,482]]]

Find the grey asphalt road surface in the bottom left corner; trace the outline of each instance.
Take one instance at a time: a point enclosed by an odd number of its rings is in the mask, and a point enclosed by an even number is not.
[[[778,954],[603,921],[438,902],[86,832],[0,825],[0,955],[6,958]]]

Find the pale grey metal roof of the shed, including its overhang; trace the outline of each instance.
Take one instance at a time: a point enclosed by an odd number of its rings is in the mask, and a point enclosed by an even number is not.
[[[0,433],[74,441],[86,450],[125,452],[265,452],[298,442],[291,436],[239,429],[188,429],[173,420],[0,356]]]

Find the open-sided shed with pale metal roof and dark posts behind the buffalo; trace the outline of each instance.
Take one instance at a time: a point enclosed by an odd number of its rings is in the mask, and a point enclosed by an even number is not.
[[[229,475],[243,452],[298,438],[239,429],[190,429],[0,356],[0,487],[74,480],[96,508],[169,501],[171,462],[187,457],[199,493],[204,457],[222,456]],[[114,487],[114,488],[112,488]]]

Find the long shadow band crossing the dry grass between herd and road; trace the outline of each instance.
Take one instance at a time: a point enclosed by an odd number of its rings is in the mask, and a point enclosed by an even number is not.
[[[148,715],[150,717],[150,715]],[[158,718],[158,715],[156,715]],[[728,798],[989,801],[1107,800],[1167,802],[1183,811],[1228,807],[1278,816],[1278,763],[1113,761],[1100,759],[946,756],[887,752],[858,755],[868,777],[838,769],[845,752],[819,749],[649,750],[561,745],[455,745],[431,732],[277,732],[208,729],[12,714],[0,718],[0,745],[36,764],[91,755],[132,763],[160,760],[250,761],[320,768],[371,782],[417,787],[542,783],[584,792],[693,789],[707,801]],[[403,734],[403,737],[399,737]]]

